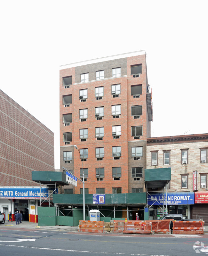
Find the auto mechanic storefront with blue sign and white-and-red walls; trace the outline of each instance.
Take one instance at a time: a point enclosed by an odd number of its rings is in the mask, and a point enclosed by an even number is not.
[[[0,211],[4,213],[5,221],[11,211],[14,220],[15,211],[22,213],[22,220],[38,222],[37,206],[40,199],[52,200],[53,193],[48,187],[0,187]],[[43,201],[44,201],[43,200]]]

